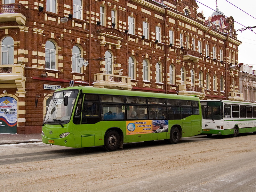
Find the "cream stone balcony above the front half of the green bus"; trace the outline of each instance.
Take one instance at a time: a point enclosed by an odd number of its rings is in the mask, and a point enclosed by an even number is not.
[[[131,90],[131,77],[96,73],[94,74],[93,87]]]

